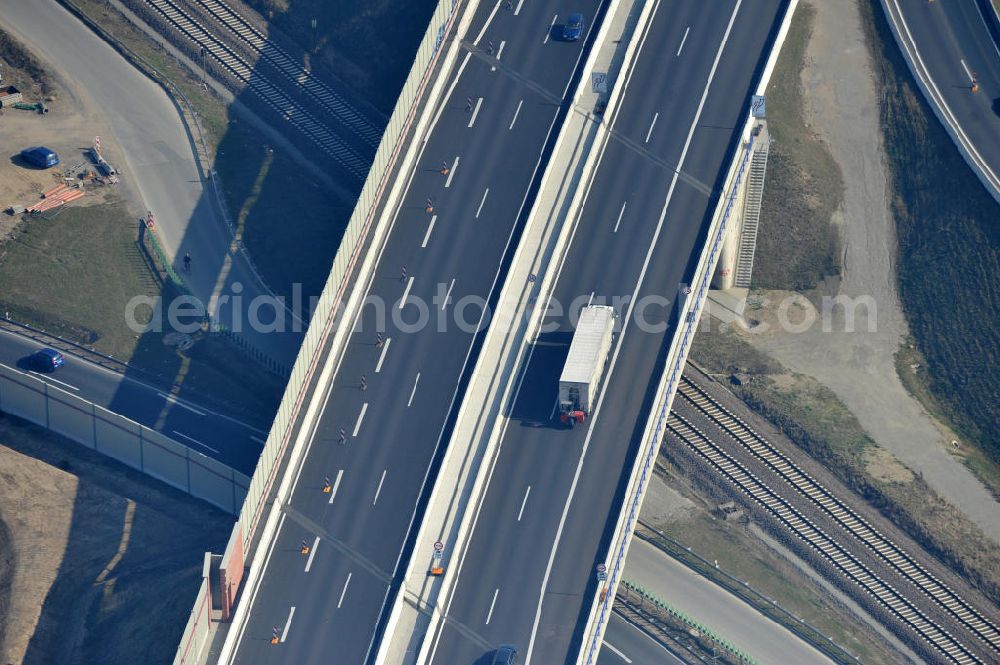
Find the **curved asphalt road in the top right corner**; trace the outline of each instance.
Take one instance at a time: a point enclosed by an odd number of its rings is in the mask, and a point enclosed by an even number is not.
[[[901,13],[920,60],[960,130],[1000,183],[1000,29],[990,0],[886,0]],[[971,92],[975,76],[979,91]],[[933,101],[931,101],[933,104]],[[994,196],[1000,196],[1000,184]]]

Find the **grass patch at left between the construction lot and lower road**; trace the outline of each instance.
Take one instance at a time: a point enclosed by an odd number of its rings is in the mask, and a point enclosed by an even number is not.
[[[196,401],[231,412],[273,411],[284,382],[225,338],[199,334],[182,352],[165,346],[161,334],[140,335],[128,326],[125,308],[133,297],[161,295],[135,237],[122,203],[69,208],[53,220],[29,218],[0,250],[0,309],[129,362]]]

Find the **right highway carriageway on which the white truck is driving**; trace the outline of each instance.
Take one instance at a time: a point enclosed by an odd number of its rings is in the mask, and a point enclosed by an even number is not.
[[[574,662],[734,130],[785,3],[658,2],[553,291],[558,307],[523,371],[433,662],[483,662],[511,643],[526,663]],[[684,177],[677,175],[679,170]],[[637,303],[629,309],[617,298]],[[575,315],[593,299],[621,318],[585,426],[553,420]],[[637,321],[641,319],[642,323]],[[670,325],[666,325],[667,323]]]

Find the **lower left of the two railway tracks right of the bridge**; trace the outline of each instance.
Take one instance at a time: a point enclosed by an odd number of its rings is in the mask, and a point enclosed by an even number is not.
[[[672,412],[667,420],[667,428],[797,538],[864,590],[876,603],[909,627],[931,649],[958,665],[984,662],[688,420]]]

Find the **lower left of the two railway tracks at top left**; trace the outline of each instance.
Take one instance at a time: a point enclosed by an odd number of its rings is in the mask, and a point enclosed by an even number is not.
[[[191,40],[199,48],[204,48],[208,56],[221,64],[284,120],[302,132],[343,167],[347,173],[358,180],[364,180],[369,167],[367,160],[316,120],[286,92],[256,74],[254,68],[225,42],[215,37],[195,18],[178,7],[173,0],[146,0],[146,3],[184,37]]]

